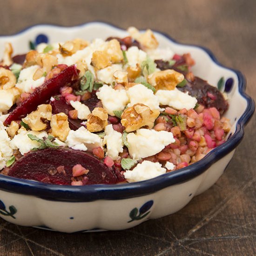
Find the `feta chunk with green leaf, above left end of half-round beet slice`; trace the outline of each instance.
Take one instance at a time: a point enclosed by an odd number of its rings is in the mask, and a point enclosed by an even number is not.
[[[32,141],[27,135],[32,134],[42,139],[47,137],[47,132],[37,132],[37,131],[27,131],[25,128],[20,128],[18,134],[13,137],[11,140],[10,146],[13,149],[19,149],[20,154],[24,155],[29,152],[32,148],[38,148],[40,143],[37,141]]]

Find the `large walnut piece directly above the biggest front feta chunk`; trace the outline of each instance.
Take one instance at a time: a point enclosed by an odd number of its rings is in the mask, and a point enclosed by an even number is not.
[[[148,126],[151,129],[159,114],[158,110],[152,111],[148,106],[137,103],[124,110],[121,115],[121,124],[125,127],[126,132],[135,131],[143,126]]]

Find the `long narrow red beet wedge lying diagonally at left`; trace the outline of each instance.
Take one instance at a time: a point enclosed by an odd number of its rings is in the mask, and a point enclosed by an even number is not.
[[[61,87],[67,86],[72,81],[76,80],[77,77],[78,72],[73,65],[47,80],[40,87],[36,88],[25,101],[22,101],[20,105],[10,113],[5,121],[5,125],[10,124],[11,121],[20,120],[22,117],[36,110],[38,105],[45,103],[54,94],[58,94]]]

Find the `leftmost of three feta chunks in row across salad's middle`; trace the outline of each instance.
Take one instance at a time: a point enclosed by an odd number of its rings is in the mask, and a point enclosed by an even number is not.
[[[106,84],[99,89],[96,95],[101,100],[103,108],[113,116],[115,115],[113,111],[122,111],[129,102],[126,90],[115,90]]]

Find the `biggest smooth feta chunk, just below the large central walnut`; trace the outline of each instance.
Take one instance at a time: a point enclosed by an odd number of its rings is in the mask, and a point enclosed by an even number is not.
[[[133,159],[139,159],[159,153],[175,139],[171,132],[138,129],[136,133],[128,133],[127,142],[129,154]]]

